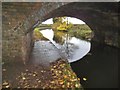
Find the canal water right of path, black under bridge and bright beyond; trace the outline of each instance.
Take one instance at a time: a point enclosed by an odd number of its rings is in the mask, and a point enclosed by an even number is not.
[[[61,50],[60,44],[52,43]],[[67,44],[65,41],[62,47],[68,49],[69,55],[63,49],[62,52],[69,56],[67,60],[84,88],[118,88],[118,48],[76,37],[70,37]]]

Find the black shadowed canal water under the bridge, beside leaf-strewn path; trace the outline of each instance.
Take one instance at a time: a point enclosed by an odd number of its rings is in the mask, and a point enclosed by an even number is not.
[[[107,45],[92,48],[91,55],[71,63],[81,84],[84,88],[118,88],[118,48]]]

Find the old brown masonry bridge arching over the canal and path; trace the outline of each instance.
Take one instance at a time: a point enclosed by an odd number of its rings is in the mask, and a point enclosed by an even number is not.
[[[93,41],[120,47],[117,2],[2,3],[3,61],[25,61],[33,46],[32,31],[57,16],[83,20],[94,32]]]

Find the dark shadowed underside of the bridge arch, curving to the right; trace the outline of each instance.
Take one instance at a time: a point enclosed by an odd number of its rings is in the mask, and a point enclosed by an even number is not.
[[[53,10],[45,16],[46,18],[70,16],[76,17],[84,21],[94,32],[94,41],[104,43],[108,37],[113,40],[113,46],[118,46],[117,35],[118,33],[118,4],[117,3],[68,3],[57,9]],[[105,42],[106,43],[106,42]]]

